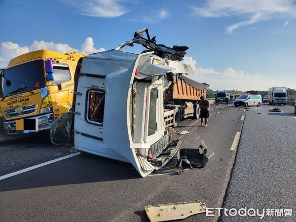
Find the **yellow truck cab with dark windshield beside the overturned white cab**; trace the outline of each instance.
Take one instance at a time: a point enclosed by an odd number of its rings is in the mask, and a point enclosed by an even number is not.
[[[53,120],[70,111],[74,72],[84,56],[37,50],[12,59],[0,73],[0,115],[6,133],[16,133],[16,120],[22,118],[37,118],[38,130],[49,130]]]

